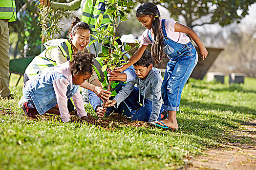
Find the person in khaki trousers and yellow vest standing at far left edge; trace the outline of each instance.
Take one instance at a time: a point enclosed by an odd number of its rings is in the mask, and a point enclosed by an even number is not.
[[[9,27],[17,19],[15,0],[0,0],[0,98],[13,99],[9,89]]]

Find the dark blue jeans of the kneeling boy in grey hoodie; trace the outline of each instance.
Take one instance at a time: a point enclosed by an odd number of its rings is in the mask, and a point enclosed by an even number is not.
[[[116,86],[116,92],[118,93],[119,91],[122,90],[122,87],[124,84],[119,84]],[[149,121],[151,112],[152,112],[152,102],[149,101],[148,99],[145,99],[145,106],[141,106],[143,103],[143,96],[140,95],[140,101],[141,104],[138,102],[139,101],[139,89],[137,87],[134,87],[130,95],[124,100],[126,105],[119,105],[120,110],[122,110],[122,114],[126,115],[127,117],[131,117],[132,120],[139,120],[139,121]],[[127,109],[128,107],[128,109]],[[161,107],[160,113],[164,111],[164,107]],[[159,118],[157,120],[161,119],[161,115],[159,114]]]

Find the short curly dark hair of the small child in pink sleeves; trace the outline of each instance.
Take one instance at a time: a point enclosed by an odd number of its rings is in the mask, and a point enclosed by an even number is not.
[[[72,75],[92,74],[92,65],[95,54],[88,51],[77,51],[73,54],[73,60],[69,67]]]

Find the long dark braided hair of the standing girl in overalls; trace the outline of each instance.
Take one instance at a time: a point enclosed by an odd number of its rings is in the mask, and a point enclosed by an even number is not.
[[[152,30],[154,33],[154,41],[151,46],[152,57],[155,59],[155,64],[159,64],[162,62],[162,58],[165,56],[164,54],[164,37],[161,33],[160,29],[160,12],[157,6],[151,2],[145,2],[139,6],[136,11],[136,17],[145,17],[151,16],[155,17],[152,22]]]

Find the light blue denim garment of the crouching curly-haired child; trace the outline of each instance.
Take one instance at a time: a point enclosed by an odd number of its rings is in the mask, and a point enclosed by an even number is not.
[[[35,104],[40,115],[51,109],[57,104],[56,94],[53,88],[53,82],[66,77],[59,72],[42,72],[23,86],[22,92],[25,100]],[[79,85],[68,85],[66,91],[67,99],[74,96],[79,89]]]

